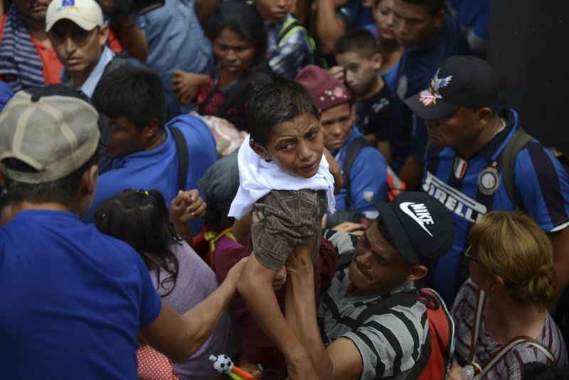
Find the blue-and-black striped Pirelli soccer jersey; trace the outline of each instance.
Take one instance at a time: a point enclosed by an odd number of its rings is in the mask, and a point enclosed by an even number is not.
[[[506,129],[469,159],[452,148],[432,146],[425,158],[422,189],[441,201],[454,217],[455,240],[449,253],[429,268],[427,285],[452,305],[459,287],[469,277],[464,251],[470,228],[489,211],[512,211],[514,205],[502,184],[501,153],[519,128],[514,110],[499,108]],[[523,209],[543,228],[558,231],[569,226],[569,178],[555,157],[537,140],[519,152],[514,168]],[[434,275],[434,278],[433,278]]]

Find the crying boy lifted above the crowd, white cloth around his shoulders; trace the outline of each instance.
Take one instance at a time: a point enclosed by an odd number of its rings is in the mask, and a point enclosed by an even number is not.
[[[265,218],[251,227],[252,248],[238,288],[252,315],[287,359],[293,379],[316,378],[307,352],[280,312],[271,283],[291,250],[320,235],[334,212],[334,178],[324,154],[321,111],[304,86],[284,78],[263,83],[249,101],[251,134],[240,148],[240,186],[229,216],[251,210]],[[249,223],[243,218],[237,223]],[[319,243],[312,247],[316,260]],[[285,301],[285,309],[289,300]]]

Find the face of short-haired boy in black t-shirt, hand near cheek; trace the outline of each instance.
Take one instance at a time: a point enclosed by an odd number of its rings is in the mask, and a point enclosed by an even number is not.
[[[374,54],[372,58],[364,58],[359,53],[347,52],[336,54],[338,64],[346,69],[344,80],[356,97],[366,99],[379,80],[381,56]]]

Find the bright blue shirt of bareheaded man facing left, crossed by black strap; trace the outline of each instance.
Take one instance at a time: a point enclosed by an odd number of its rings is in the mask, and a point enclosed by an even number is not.
[[[166,206],[176,198],[179,191],[179,154],[169,125],[178,127],[188,144],[188,177],[185,190],[198,188],[201,176],[217,160],[216,140],[208,125],[201,119],[193,115],[181,115],[166,124],[166,140],[159,147],[115,159],[113,168],[101,174],[95,199],[83,217],[85,223],[92,222],[97,206],[125,189],[156,189],[164,196]],[[203,197],[202,191],[200,194]],[[199,233],[202,225],[203,220],[193,220],[193,233]]]

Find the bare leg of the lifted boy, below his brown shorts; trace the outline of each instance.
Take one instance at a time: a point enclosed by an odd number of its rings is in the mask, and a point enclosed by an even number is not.
[[[240,295],[257,323],[287,359],[289,376],[292,379],[317,379],[306,350],[280,311],[272,290],[274,277],[275,271],[259,263],[252,253],[237,285]]]

